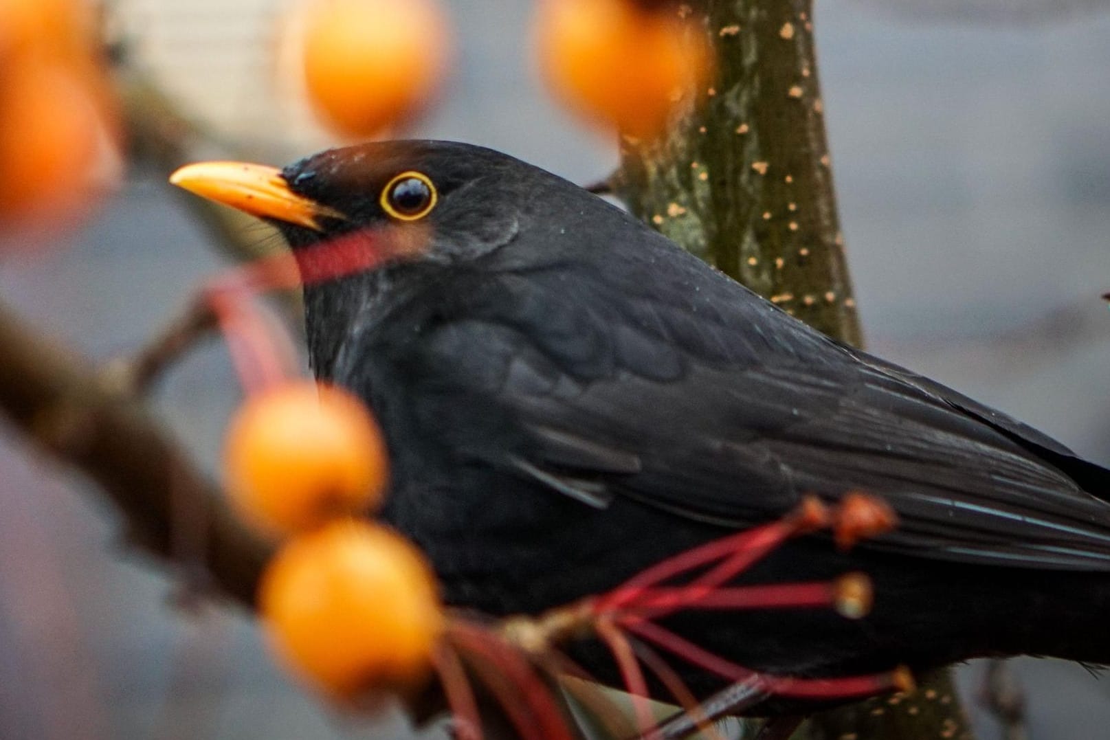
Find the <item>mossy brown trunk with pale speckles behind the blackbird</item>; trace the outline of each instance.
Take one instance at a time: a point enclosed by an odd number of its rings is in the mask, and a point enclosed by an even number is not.
[[[624,139],[613,182],[635,214],[678,244],[858,346],[811,11],[808,0],[683,8],[692,32],[712,39],[716,79],[660,141]],[[909,696],[824,712],[803,732],[815,740],[970,737],[949,671],[926,677]]]

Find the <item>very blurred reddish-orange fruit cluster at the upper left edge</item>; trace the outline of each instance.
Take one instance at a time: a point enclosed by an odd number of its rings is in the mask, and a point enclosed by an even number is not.
[[[119,133],[97,21],[81,0],[0,2],[0,224],[90,201]]]

